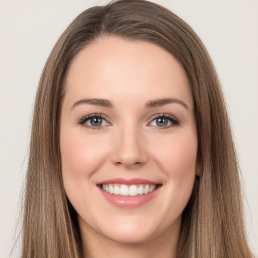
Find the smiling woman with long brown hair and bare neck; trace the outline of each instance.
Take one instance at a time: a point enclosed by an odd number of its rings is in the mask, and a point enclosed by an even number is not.
[[[176,15],[79,15],[37,91],[23,257],[252,257],[210,57]]]

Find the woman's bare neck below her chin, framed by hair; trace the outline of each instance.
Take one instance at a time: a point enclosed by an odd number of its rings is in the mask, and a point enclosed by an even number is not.
[[[113,241],[89,227],[81,233],[84,258],[175,258],[180,223],[141,243]]]

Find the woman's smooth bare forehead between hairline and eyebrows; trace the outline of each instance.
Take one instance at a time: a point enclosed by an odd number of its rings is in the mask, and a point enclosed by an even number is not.
[[[192,105],[188,79],[173,55],[153,43],[116,37],[99,38],[76,55],[66,96],[74,101],[178,97]]]

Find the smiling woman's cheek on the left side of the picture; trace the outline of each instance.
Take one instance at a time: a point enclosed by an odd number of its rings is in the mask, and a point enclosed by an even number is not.
[[[100,148],[101,137],[86,135],[75,128],[62,127],[60,152],[62,179],[67,197],[79,214],[85,207],[95,207],[92,174],[106,160],[105,146]]]

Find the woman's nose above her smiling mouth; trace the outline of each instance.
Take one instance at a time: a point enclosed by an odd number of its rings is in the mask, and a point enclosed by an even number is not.
[[[116,132],[112,162],[126,168],[137,168],[148,160],[146,141],[136,126],[124,126]]]

